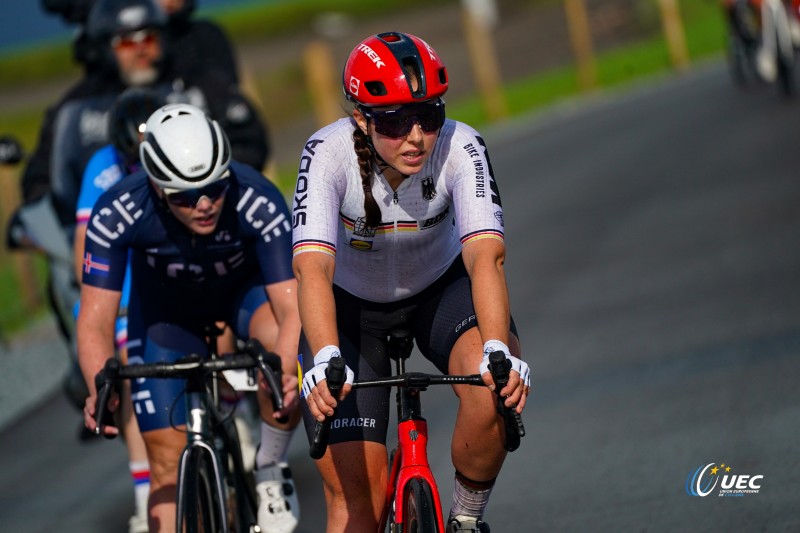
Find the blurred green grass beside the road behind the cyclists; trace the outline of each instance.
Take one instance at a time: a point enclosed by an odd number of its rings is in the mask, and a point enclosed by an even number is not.
[[[532,1],[532,0],[528,0]],[[656,0],[648,0],[655,2]],[[421,3],[413,0],[412,3]],[[313,15],[328,9],[329,2],[322,0],[306,0],[289,2],[276,2],[275,4],[259,4],[253,8],[242,8],[237,11],[215,15],[226,27],[228,33],[238,42],[263,38],[264,35],[279,37],[282,32],[293,31],[292,25],[287,21],[305,24]],[[399,2],[377,3],[372,1],[352,0],[347,2],[351,13],[360,13],[366,16],[374,10],[401,5]],[[403,6],[408,6],[404,2]],[[655,4],[653,4],[655,5]],[[715,1],[682,0],[681,14],[684,21],[686,42],[692,60],[698,60],[723,51],[725,43],[724,20]],[[652,8],[650,9],[652,11]],[[280,22],[280,23],[278,23]],[[295,26],[296,28],[297,26]],[[627,45],[610,50],[596,58],[597,82],[596,90],[618,90],[634,81],[647,77],[664,75],[671,71],[669,52],[660,27],[650,38],[641,40],[632,45]],[[63,45],[62,47],[63,48]],[[75,73],[68,55],[63,50],[54,51],[47,47],[26,52],[34,54],[27,59],[0,58],[0,86],[6,83],[20,83],[21,79],[33,83],[35,80],[44,80],[53,75],[67,75]],[[40,54],[40,55],[39,55]],[[35,57],[36,60],[31,60]],[[10,65],[17,65],[11,68]],[[66,67],[65,67],[66,65]],[[14,72],[14,68],[25,66],[27,70]],[[272,110],[274,115],[273,127],[278,127],[281,121],[289,121],[299,109],[308,109],[310,96],[306,91],[297,91],[303,86],[304,76],[301,65],[287,65],[275,72],[260,77],[256,87],[263,96],[264,101],[281,102],[280,110]],[[508,105],[509,114],[517,116],[536,112],[556,102],[579,97],[582,91],[578,84],[577,72],[571,65],[540,72],[528,78],[506,84],[503,88]],[[488,125],[489,120],[484,112],[482,102],[478,96],[471,96],[457,100],[448,100],[448,116],[467,122],[478,129]],[[0,124],[3,130],[15,132],[25,146],[35,145],[39,121],[42,110],[13,110],[5,112],[0,110]],[[0,132],[3,133],[3,132]],[[288,195],[296,176],[296,165],[286,165],[277,169],[275,181],[280,183]],[[18,172],[12,174],[12,179],[18,179]],[[4,218],[7,216],[0,213]],[[0,224],[2,226],[2,224]],[[41,262],[37,263],[41,270]],[[39,279],[43,273],[39,272]],[[20,307],[20,291],[14,270],[9,261],[0,261],[0,332],[10,332],[23,326],[32,312],[41,313],[39,310],[28,310]]]

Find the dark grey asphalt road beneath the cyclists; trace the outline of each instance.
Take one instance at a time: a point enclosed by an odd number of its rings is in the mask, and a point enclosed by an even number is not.
[[[798,124],[800,102],[709,65],[485,132],[534,376],[492,531],[800,529]],[[454,400],[425,394],[449,505]],[[123,447],[79,443],[77,420],[56,393],[0,433],[0,530],[125,530]],[[300,530],[317,532],[304,440]],[[709,463],[759,492],[690,496]]]

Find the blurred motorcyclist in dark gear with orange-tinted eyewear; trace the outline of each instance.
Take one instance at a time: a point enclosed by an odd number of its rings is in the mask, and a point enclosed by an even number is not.
[[[87,68],[45,114],[37,146],[22,176],[21,211],[35,208],[37,216],[18,218],[32,224],[54,218],[62,234],[53,236],[53,240],[61,241],[62,248],[72,249],[84,169],[89,158],[109,142],[109,110],[128,87],[150,87],[168,102],[200,107],[225,130],[234,157],[257,169],[265,166],[269,144],[257,109],[230,74],[225,74],[230,72],[228,67],[217,69],[195,52],[187,52],[187,58],[195,58],[195,66],[186,66],[181,47],[169,46],[168,18],[158,4],[153,0],[96,0],[85,15],[81,15],[85,3],[71,7],[75,9],[71,16],[85,16],[89,46],[76,54]],[[184,9],[176,16],[185,17],[187,13]],[[227,60],[224,63],[229,66]],[[73,359],[65,389],[80,406],[86,390],[74,352],[72,308],[78,298],[77,280],[71,261],[64,264],[52,255],[48,258],[47,292]]]

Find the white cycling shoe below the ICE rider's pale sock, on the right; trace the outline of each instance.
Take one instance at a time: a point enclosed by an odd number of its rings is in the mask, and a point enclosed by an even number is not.
[[[292,533],[300,521],[300,502],[286,463],[255,471],[258,526],[263,533]]]

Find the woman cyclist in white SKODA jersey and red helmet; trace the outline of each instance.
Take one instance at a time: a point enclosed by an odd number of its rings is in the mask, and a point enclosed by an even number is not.
[[[349,384],[390,373],[389,331],[411,331],[442,372],[479,371],[487,384],[486,354],[502,350],[513,369],[506,405],[521,413],[530,391],[509,310],[498,188],[483,139],[445,119],[444,63],[418,37],[382,33],[355,47],[342,82],[352,117],[306,143],[292,212],[306,429],[337,405],[341,419],[317,461],[328,532],[377,529],[389,391],[350,393]],[[325,368],[339,353],[348,380],[337,401]],[[488,531],[482,516],[505,459],[502,422],[488,389],[456,394],[448,531]]]

